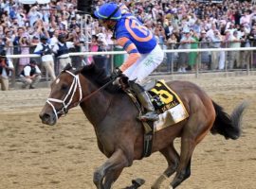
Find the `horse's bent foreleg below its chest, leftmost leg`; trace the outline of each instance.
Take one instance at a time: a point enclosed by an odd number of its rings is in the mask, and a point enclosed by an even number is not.
[[[109,189],[125,166],[128,166],[128,161],[122,150],[118,149],[94,172],[93,182],[98,189]]]

